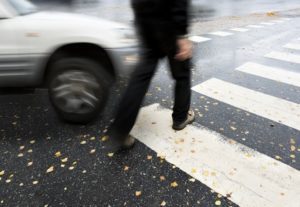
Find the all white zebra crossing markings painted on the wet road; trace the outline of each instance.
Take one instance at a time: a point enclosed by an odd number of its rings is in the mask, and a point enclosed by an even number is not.
[[[228,36],[226,32],[215,35]],[[203,38],[193,37],[197,43],[209,41]],[[282,48],[297,51],[299,43],[295,40]],[[263,58],[300,64],[300,56],[293,51],[272,51]],[[249,61],[235,71],[300,87],[300,73],[287,68]],[[208,79],[193,86],[192,90],[300,131],[299,103],[218,78]],[[239,206],[300,206],[299,170],[199,125],[175,132],[171,130],[170,117],[171,110],[159,104],[146,106],[131,134],[159,156]]]

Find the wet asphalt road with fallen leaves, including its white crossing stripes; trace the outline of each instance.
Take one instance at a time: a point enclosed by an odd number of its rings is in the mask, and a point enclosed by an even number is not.
[[[0,206],[299,206],[300,13],[283,14],[223,33],[195,27],[195,123],[179,135],[163,127],[173,81],[162,61],[138,143],[123,154],[110,154],[103,135],[126,80],[85,126],[60,121],[47,91],[2,90]]]

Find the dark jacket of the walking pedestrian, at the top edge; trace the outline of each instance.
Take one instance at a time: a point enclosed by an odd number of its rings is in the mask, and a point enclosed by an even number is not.
[[[172,31],[175,36],[188,33],[189,0],[131,0],[138,27]]]

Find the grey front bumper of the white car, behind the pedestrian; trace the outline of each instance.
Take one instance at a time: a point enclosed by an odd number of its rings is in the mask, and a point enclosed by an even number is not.
[[[118,76],[129,76],[139,61],[138,47],[113,48],[107,52]]]

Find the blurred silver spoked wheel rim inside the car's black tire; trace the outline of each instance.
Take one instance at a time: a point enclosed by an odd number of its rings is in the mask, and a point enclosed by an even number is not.
[[[50,90],[55,105],[68,113],[93,112],[100,102],[96,96],[101,90],[97,79],[84,71],[70,70],[58,75]]]

